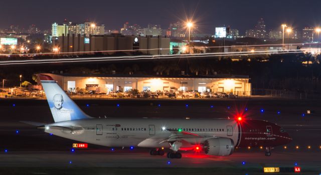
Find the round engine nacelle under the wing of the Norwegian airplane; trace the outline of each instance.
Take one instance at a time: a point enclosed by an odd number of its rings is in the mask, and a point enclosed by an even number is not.
[[[204,142],[203,150],[209,155],[231,155],[234,151],[234,141],[230,138],[211,138]]]

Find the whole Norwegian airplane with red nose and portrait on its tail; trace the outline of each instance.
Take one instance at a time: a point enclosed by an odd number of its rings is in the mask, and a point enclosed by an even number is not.
[[[235,147],[271,148],[291,141],[280,126],[261,120],[93,118],[85,114],[50,76],[39,74],[55,123],[45,132],[110,147],[147,147],[151,155],[181,158],[180,150],[198,149],[216,156],[231,155]]]

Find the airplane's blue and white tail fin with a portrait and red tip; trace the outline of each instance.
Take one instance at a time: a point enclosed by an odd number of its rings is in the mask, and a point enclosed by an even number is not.
[[[39,74],[55,122],[92,118],[85,114],[50,76]]]

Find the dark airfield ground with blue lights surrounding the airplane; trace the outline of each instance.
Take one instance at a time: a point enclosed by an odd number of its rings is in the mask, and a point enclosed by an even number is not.
[[[270,157],[264,156],[259,148],[239,148],[227,157],[183,152],[182,159],[150,156],[144,148],[112,151],[109,147],[89,145],[86,150],[71,152],[75,141],[19,122],[53,122],[47,101],[2,99],[0,174],[263,174],[263,167],[290,171],[295,163],[303,174],[321,172],[321,105],[317,101],[77,100],[76,103],[94,117],[227,118],[243,113],[246,118],[283,126],[293,141],[286,149],[275,148]],[[313,114],[307,114],[307,110]]]

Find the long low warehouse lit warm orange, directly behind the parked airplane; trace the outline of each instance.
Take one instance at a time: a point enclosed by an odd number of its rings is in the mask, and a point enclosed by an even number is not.
[[[238,96],[251,95],[248,76],[150,76],[150,75],[70,75],[46,74],[69,92],[99,91],[126,92],[131,89],[141,91],[198,91],[226,92]],[[40,81],[39,81],[40,82]]]

